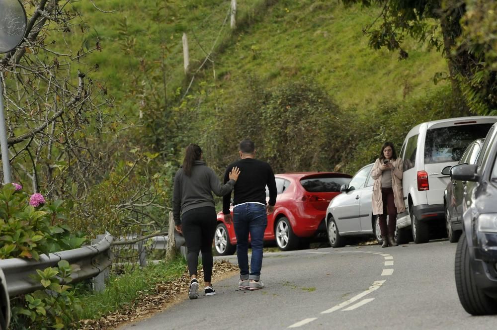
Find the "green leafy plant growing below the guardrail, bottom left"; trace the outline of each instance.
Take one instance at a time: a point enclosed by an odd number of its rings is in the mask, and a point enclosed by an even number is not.
[[[68,329],[74,326],[82,311],[80,300],[72,287],[71,273],[77,265],[61,260],[57,268],[37,270],[33,276],[45,289],[14,298],[12,329]]]

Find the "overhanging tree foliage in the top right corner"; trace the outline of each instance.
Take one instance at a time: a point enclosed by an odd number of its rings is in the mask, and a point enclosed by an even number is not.
[[[411,36],[449,61],[455,93],[476,114],[497,113],[497,4],[487,0],[342,0],[366,7],[383,6],[378,22],[366,29],[369,45],[398,50],[407,58],[404,39]],[[438,32],[440,31],[440,32]]]

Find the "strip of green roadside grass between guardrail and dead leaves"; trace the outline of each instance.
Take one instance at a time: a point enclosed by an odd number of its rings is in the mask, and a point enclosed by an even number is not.
[[[131,273],[111,276],[104,292],[87,292],[79,297],[83,307],[79,318],[95,320],[124,306],[133,305],[141,292],[150,293],[156,283],[176,279],[185,269],[186,261],[179,257],[171,262],[150,263]]]

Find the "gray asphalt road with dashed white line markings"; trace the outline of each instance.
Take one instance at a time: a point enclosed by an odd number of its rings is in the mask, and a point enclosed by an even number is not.
[[[443,240],[266,253],[266,288],[238,290],[235,276],[213,283],[214,296],[200,290],[119,330],[493,329],[497,316],[472,317],[459,303],[455,249]]]

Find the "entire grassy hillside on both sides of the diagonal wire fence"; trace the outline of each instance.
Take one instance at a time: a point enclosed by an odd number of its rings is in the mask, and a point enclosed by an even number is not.
[[[98,37],[102,46],[88,59],[99,66],[93,75],[108,80],[109,93],[128,114],[136,113],[137,86],[153,83],[143,73],[155,75],[160,86],[148,92],[166,90],[168,97],[178,87],[184,90],[183,32],[190,41],[193,68],[204,60],[204,50],[218,50],[212,57],[214,66],[206,66],[201,78],[213,83],[215,74],[224,95],[247,74],[273,84],[308,76],[324,85],[340,106],[362,109],[422,94],[433,87],[433,75],[446,70],[439,53],[414,42],[406,61],[398,61],[395,53],[370,49],[361,30],[378,11],[346,8],[338,0],[239,0],[244,25],[234,35],[229,19],[225,22],[228,0],[98,2],[103,10],[118,9],[112,13],[98,11],[89,1],[75,5],[93,31],[87,43],[92,45]],[[78,29],[71,34],[71,43],[83,43]]]

